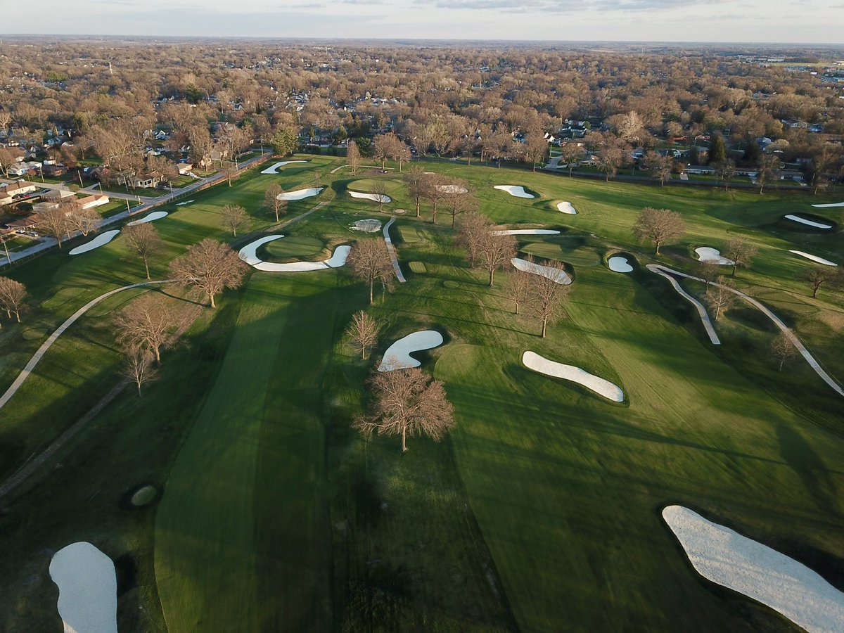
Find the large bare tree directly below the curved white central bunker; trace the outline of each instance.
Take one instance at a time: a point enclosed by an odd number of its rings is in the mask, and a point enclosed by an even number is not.
[[[454,409],[442,382],[418,368],[376,372],[369,386],[371,414],[354,422],[354,428],[366,437],[373,432],[402,436],[402,452],[406,452],[408,436],[439,441],[454,426]]]

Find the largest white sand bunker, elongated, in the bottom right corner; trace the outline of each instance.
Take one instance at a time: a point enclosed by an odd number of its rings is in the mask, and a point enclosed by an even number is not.
[[[844,593],[797,560],[683,506],[663,519],[701,576],[743,593],[808,631],[844,630]]]

